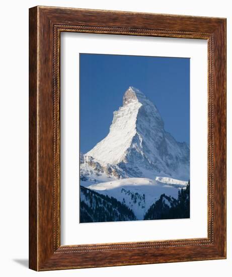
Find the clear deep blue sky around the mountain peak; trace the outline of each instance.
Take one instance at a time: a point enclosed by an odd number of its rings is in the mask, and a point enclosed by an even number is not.
[[[129,86],[157,106],[166,131],[189,145],[189,78],[189,58],[80,54],[81,152],[108,134]]]

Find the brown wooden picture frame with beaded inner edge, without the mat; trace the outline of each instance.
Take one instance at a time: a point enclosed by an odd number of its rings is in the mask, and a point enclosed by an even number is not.
[[[60,33],[208,41],[208,236],[60,245]],[[34,7],[29,11],[29,267],[34,270],[226,258],[226,20]]]

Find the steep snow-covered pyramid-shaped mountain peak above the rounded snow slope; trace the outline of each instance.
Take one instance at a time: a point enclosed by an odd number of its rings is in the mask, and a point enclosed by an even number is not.
[[[157,107],[129,87],[108,135],[81,157],[81,179],[106,182],[156,176],[189,180],[189,147],[164,129]]]

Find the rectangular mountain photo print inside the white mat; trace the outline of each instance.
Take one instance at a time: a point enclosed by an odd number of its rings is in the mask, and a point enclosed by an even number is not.
[[[80,223],[190,218],[190,59],[80,54]]]

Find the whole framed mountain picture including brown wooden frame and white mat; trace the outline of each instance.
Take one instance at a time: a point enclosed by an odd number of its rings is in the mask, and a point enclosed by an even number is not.
[[[29,267],[226,258],[226,20],[29,11]]]

